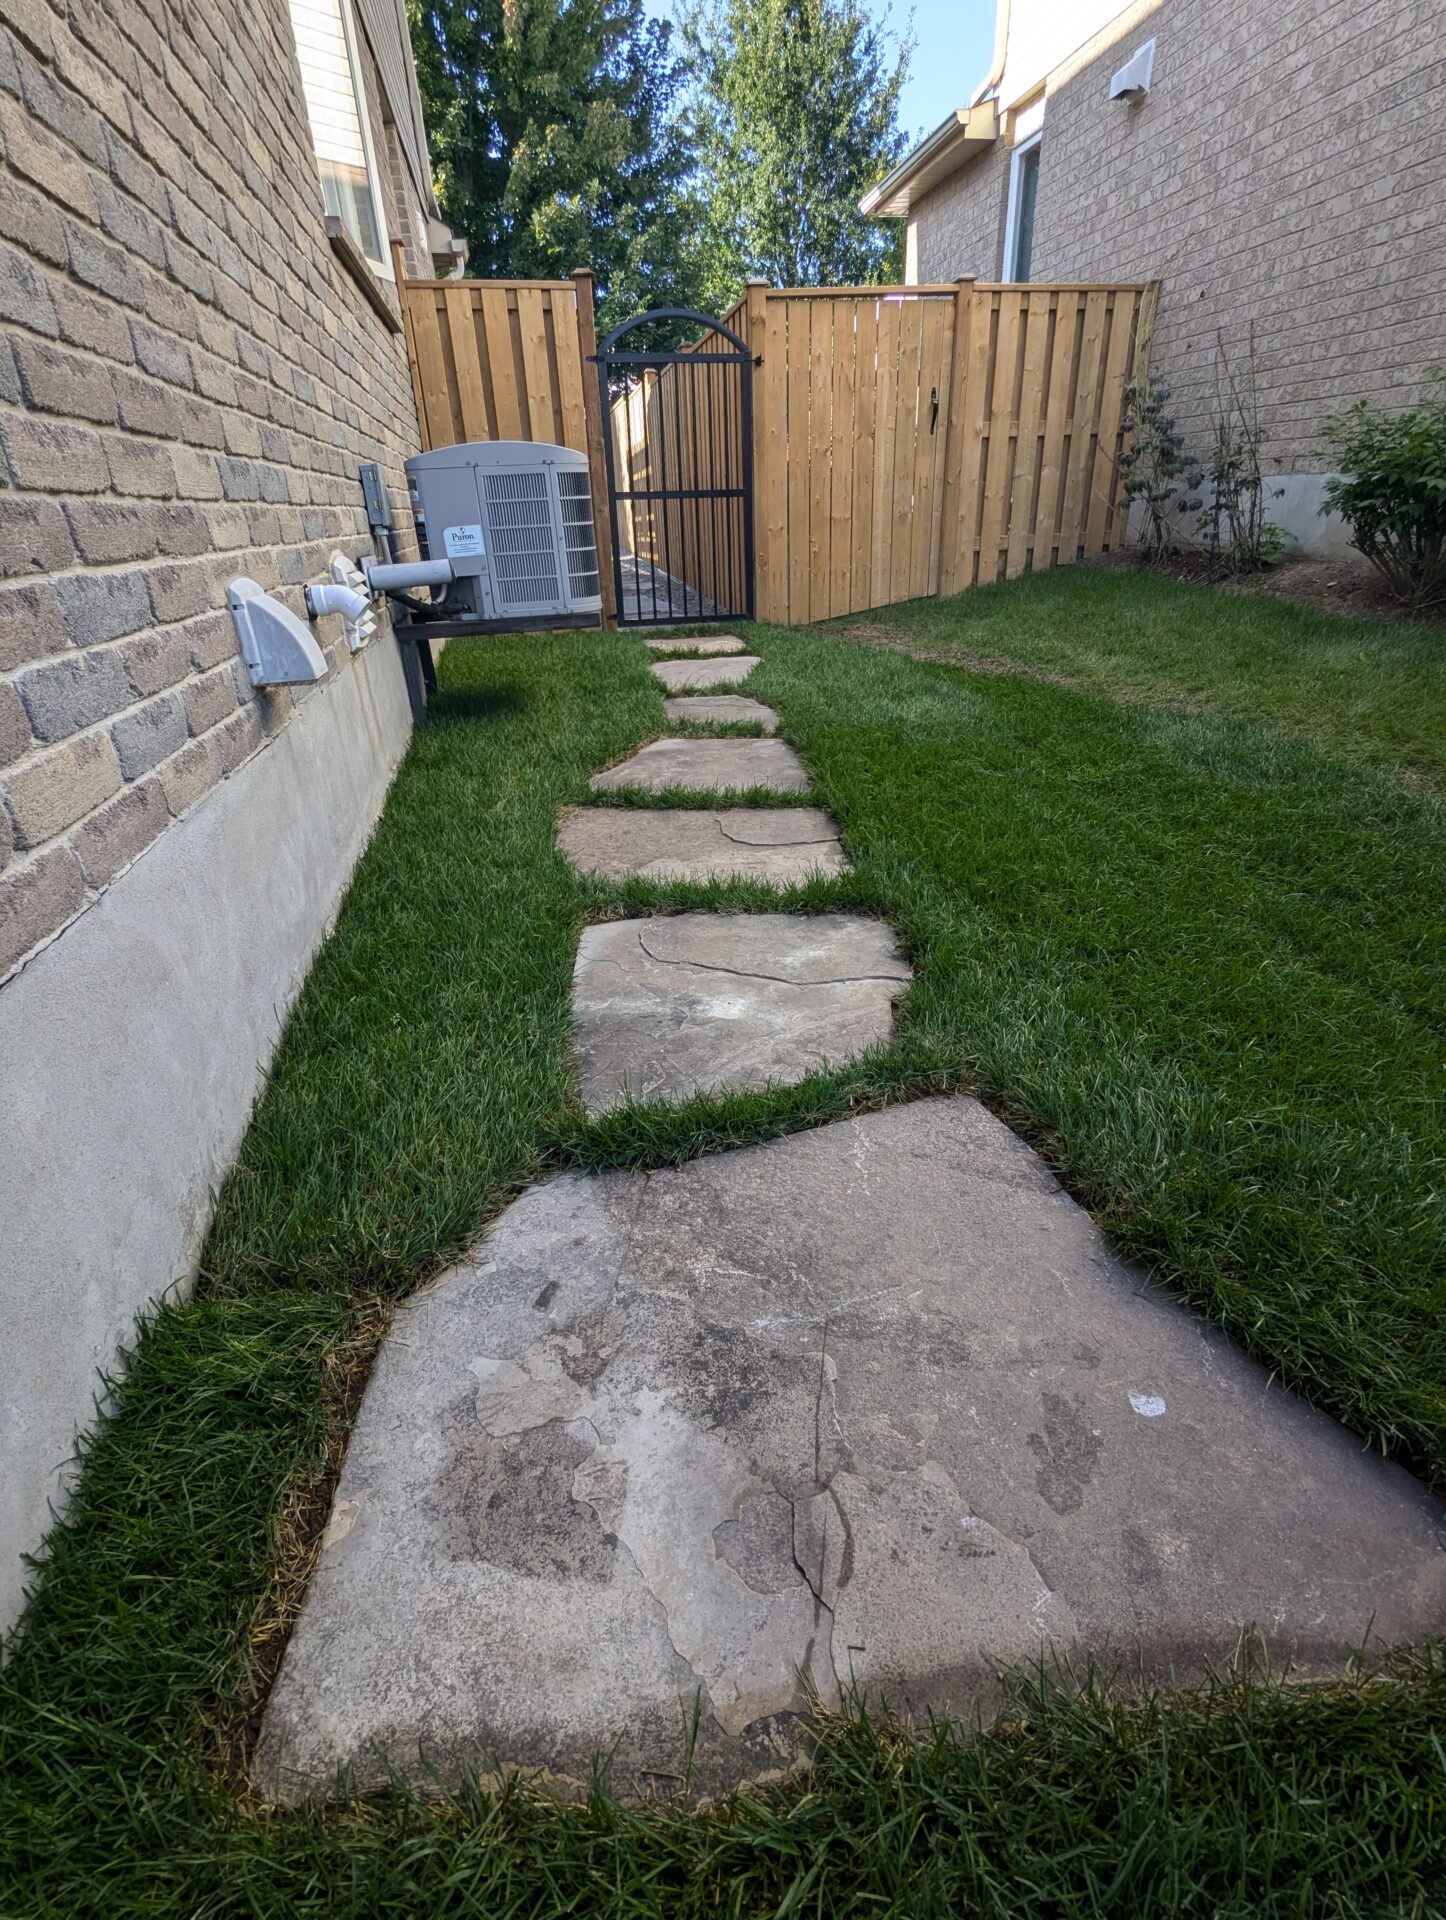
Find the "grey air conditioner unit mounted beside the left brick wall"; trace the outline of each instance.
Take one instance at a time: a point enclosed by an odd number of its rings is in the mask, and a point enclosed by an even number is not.
[[[407,486],[422,553],[447,564],[442,618],[520,628],[601,612],[586,453],[469,440],[417,453]]]

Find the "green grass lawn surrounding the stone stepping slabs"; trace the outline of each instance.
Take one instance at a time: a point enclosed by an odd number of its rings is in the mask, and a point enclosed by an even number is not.
[[[707,1814],[246,1799],[388,1308],[549,1167],[977,1089],[1120,1246],[1446,1484],[1438,634],[1085,572],[870,618],[1068,682],[753,632],[749,691],[856,862],[785,904],[897,924],[918,979],[895,1044],[591,1123],[566,1079],[578,927],[778,895],[584,883],[553,854],[588,774],[664,730],[638,639],[446,651],[196,1296],[144,1332],[0,1672],[0,1914],[1440,1910],[1431,1649],[1313,1695],[1022,1684],[977,1740],[835,1722],[808,1782]]]

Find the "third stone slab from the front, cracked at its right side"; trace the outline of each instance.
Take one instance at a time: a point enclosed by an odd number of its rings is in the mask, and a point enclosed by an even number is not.
[[[582,806],[557,845],[605,879],[768,879],[847,874],[837,824],[820,806]]]

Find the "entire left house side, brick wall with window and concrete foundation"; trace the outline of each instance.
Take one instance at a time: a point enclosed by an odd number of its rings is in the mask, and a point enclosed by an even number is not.
[[[394,273],[451,271],[401,0],[0,0],[0,1624],[407,745],[401,649],[253,691],[405,501]]]

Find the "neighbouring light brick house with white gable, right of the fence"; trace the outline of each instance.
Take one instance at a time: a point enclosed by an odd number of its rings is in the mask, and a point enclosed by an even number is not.
[[[1446,361],[1446,15],[997,0],[972,104],[860,205],[908,223],[912,282],[1160,278],[1150,365],[1193,447],[1217,334],[1242,367],[1254,323],[1269,516],[1338,549],[1317,515],[1321,420],[1410,405]]]

